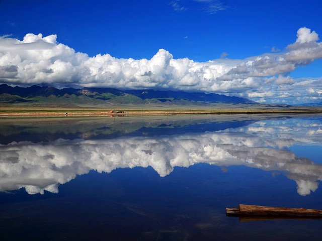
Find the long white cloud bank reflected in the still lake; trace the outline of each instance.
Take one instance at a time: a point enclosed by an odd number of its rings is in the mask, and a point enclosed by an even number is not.
[[[29,194],[45,190],[57,193],[59,184],[90,170],[109,173],[117,168],[150,166],[164,177],[175,167],[197,163],[281,171],[296,182],[298,194],[307,195],[317,189],[322,165],[297,157],[289,148],[321,145],[322,124],[318,118],[262,119],[240,122],[244,125],[231,128],[227,123],[225,128],[217,130],[198,129],[198,132],[173,135],[165,135],[164,128],[176,129],[168,123],[158,129],[160,132],[155,128],[153,135],[132,133],[109,139],[56,139],[0,145],[0,191],[24,187]],[[189,129],[189,125],[185,127]]]

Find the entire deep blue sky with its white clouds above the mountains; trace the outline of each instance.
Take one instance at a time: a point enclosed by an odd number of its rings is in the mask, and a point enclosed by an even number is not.
[[[0,0],[0,82],[182,89],[263,103],[319,102],[322,54],[307,56],[322,52],[320,38],[314,37],[322,36],[320,9],[318,0]],[[258,74],[256,58],[288,56],[287,46],[304,27],[309,31],[303,35],[312,38],[298,41],[301,46],[293,50],[305,48],[305,61],[293,58],[293,67]],[[38,37],[24,41],[29,33]],[[44,41],[46,36],[55,38]],[[21,41],[19,48],[15,41]],[[32,45],[37,55],[29,55]],[[245,64],[253,64],[252,74],[236,75]]]

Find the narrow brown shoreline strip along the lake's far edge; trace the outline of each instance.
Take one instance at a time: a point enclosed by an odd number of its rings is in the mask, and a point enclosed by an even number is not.
[[[21,116],[149,116],[149,115],[176,115],[176,114],[290,114],[290,113],[322,113],[322,109],[258,109],[258,110],[129,110],[124,113],[111,113],[110,111],[2,111],[1,117],[21,117]]]

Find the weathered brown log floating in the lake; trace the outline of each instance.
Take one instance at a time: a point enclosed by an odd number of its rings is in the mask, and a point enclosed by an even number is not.
[[[272,218],[322,218],[322,210],[306,208],[266,207],[239,204],[226,208],[227,216]]]

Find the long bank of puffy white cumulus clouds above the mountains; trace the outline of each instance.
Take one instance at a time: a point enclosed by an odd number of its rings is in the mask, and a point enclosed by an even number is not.
[[[280,85],[289,85],[289,93],[302,93],[301,88],[297,89],[299,85],[294,84],[297,81],[286,75],[297,66],[322,58],[322,43],[317,41],[318,35],[304,27],[298,30],[297,40],[284,52],[244,60],[225,58],[195,62],[188,58],[175,59],[165,49],[158,50],[151,59],[118,59],[109,54],[89,57],[58,43],[56,35],[27,34],[23,40],[5,36],[0,37],[0,82],[55,87],[180,89],[241,97],[252,97],[262,88],[262,92],[274,93],[270,99],[282,98],[280,91],[284,94],[286,90]],[[226,56],[223,53],[221,57]],[[316,83],[312,83],[306,87],[315,89],[315,86]],[[260,97],[254,98],[258,99]]]

